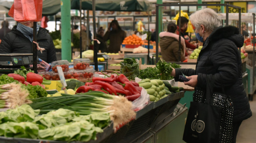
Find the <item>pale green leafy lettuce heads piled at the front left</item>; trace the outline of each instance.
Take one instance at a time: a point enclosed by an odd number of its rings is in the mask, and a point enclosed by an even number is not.
[[[96,140],[96,134],[110,123],[108,113],[83,116],[58,109],[38,116],[39,112],[27,104],[0,112],[0,136],[87,142]]]

